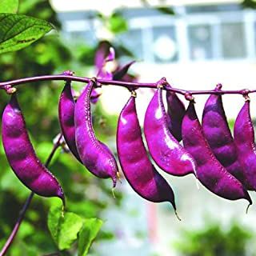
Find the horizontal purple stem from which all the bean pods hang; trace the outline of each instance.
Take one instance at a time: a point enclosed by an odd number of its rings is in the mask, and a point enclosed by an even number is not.
[[[39,81],[49,81],[49,80],[61,80],[61,81],[75,81],[75,82],[89,82],[90,78],[82,78],[67,74],[57,74],[57,75],[42,75],[30,78],[20,78],[16,80],[0,82],[0,89],[6,90],[6,86],[18,86],[28,82],[39,82]],[[123,86],[126,88],[157,88],[157,83],[143,83],[143,82],[122,82],[114,80],[97,79],[98,83],[101,85],[112,85],[112,86]],[[244,94],[245,90],[182,90],[178,88],[173,88],[168,83],[163,88],[164,90],[169,90],[177,94]],[[255,93],[256,90],[247,90],[248,94]]]

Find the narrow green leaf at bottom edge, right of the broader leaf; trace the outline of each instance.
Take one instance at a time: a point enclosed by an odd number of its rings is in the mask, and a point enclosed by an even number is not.
[[[91,244],[94,242],[98,231],[102,227],[102,220],[98,218],[87,218],[82,230],[79,232],[78,256],[86,256]]]

